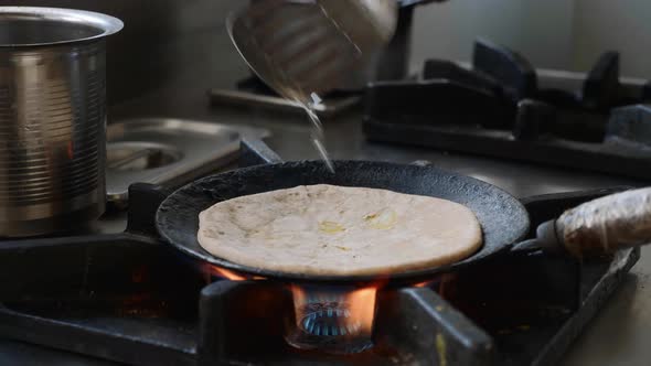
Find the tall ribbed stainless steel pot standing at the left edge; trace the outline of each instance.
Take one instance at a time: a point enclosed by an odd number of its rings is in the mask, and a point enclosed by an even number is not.
[[[52,234],[105,208],[113,17],[0,7],[0,236]]]

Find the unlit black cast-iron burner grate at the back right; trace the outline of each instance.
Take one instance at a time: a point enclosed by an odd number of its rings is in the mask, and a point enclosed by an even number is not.
[[[616,52],[577,79],[536,72],[516,52],[478,41],[470,68],[430,60],[423,79],[370,85],[364,132],[373,141],[651,179],[651,139],[631,132],[648,129],[650,85],[620,78]]]

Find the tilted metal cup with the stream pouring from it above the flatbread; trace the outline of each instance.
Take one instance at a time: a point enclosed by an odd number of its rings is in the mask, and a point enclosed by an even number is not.
[[[393,37],[395,0],[255,0],[226,20],[233,44],[253,72],[302,107],[310,140],[331,172],[314,106],[364,67]]]

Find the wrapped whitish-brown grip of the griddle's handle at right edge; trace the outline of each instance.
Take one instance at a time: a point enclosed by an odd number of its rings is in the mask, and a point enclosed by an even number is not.
[[[556,230],[565,248],[577,257],[651,243],[651,187],[572,208],[557,219]]]

